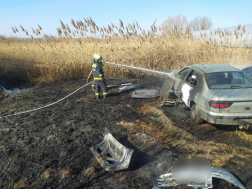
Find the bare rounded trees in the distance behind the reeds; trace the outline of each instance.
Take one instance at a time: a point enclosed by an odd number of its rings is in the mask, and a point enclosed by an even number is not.
[[[208,17],[195,17],[188,21],[185,16],[177,15],[167,18],[161,25],[163,32],[189,33],[191,31],[211,29],[213,22]]]

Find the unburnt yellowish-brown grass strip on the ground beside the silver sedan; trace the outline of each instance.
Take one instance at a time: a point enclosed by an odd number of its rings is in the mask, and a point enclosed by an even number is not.
[[[182,128],[175,127],[162,110],[154,107],[154,103],[144,104],[135,111],[148,116],[148,119],[137,120],[134,123],[122,121],[118,125],[127,130],[146,133],[168,149],[176,148],[185,152],[189,158],[210,159],[213,166],[225,166],[233,172],[237,172],[237,168],[242,170],[242,167],[252,169],[249,162],[252,158],[252,136],[244,131],[223,132],[210,124],[203,124],[194,125],[191,134],[187,131],[192,130],[189,125]],[[242,174],[239,176],[243,177]]]

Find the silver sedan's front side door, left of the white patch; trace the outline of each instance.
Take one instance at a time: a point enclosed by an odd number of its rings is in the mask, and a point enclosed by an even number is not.
[[[178,97],[181,97],[181,88],[185,83],[185,78],[191,71],[191,68],[185,68],[175,75],[174,92]]]

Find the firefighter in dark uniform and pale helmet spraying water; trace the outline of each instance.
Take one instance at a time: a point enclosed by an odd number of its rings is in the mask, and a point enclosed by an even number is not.
[[[101,55],[94,54],[91,67],[92,67],[93,77],[94,77],[96,99],[100,98],[100,89],[102,89],[103,98],[106,98],[108,94],[108,89],[107,89],[107,85],[104,79],[104,73],[102,69],[103,66],[104,65],[102,63]]]

